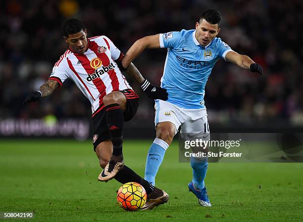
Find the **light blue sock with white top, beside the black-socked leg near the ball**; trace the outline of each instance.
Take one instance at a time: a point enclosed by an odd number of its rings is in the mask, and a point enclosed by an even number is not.
[[[146,166],[145,166],[145,175],[144,178],[151,182],[152,185],[155,184],[154,178],[159,170],[159,167],[163,161],[163,157],[166,149],[168,148],[168,144],[162,139],[155,138],[153,143],[149,149],[147,158],[146,158]]]

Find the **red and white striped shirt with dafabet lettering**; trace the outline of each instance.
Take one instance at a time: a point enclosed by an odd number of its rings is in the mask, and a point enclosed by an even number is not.
[[[104,95],[132,89],[114,62],[122,58],[123,53],[106,36],[92,37],[84,54],[67,49],[55,63],[49,79],[60,86],[71,79],[90,100],[94,116],[104,108]]]

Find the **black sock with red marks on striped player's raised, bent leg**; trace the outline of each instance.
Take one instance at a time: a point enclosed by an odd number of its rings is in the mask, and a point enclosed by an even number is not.
[[[119,156],[122,154],[123,143],[123,111],[118,103],[105,106],[105,111],[107,129],[113,146],[112,155]]]

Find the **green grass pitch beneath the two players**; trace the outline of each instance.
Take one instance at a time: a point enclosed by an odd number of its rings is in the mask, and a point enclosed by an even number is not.
[[[125,140],[126,165],[144,175],[150,140]],[[165,154],[156,185],[170,195],[152,211],[126,212],[115,180],[101,172],[90,141],[0,140],[0,212],[34,211],[29,222],[294,222],[303,218],[303,164],[210,163],[205,184],[213,207],[188,192],[192,171]],[[13,220],[9,220],[13,221]],[[22,220],[15,220],[22,221]]]

